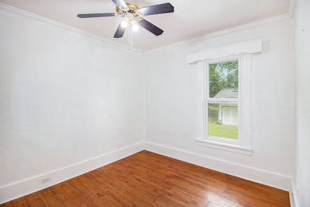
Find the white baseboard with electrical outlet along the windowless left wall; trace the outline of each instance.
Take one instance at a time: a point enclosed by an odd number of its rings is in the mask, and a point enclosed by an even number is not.
[[[78,175],[90,172],[104,165],[123,159],[144,149],[144,143],[133,144],[92,159],[84,160],[61,169],[36,175],[24,180],[0,186],[0,204],[45,189]],[[41,179],[50,177],[50,181],[42,184]]]

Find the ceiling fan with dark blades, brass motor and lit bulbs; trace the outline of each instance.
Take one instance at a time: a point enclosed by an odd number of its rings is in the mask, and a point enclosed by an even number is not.
[[[125,3],[124,0],[112,0],[116,4],[116,13],[99,13],[99,14],[80,14],[80,18],[102,17],[102,16],[121,16],[123,20],[119,24],[114,38],[123,37],[127,26],[131,25],[133,30],[138,29],[138,25],[144,29],[152,32],[156,36],[162,34],[164,31],[156,27],[154,24],[148,22],[141,16],[157,15],[174,12],[174,7],[170,3],[157,4],[140,8],[133,3]]]

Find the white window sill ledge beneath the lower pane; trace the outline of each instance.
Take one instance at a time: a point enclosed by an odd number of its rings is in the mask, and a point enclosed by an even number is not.
[[[221,149],[230,152],[236,152],[245,155],[252,155],[252,148],[244,147],[241,145],[230,143],[219,143],[211,140],[196,139],[196,144],[200,146],[211,147],[215,149]]]

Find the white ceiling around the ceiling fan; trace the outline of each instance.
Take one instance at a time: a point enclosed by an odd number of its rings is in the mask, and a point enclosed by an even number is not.
[[[174,13],[144,16],[162,29],[159,36],[140,27],[133,32],[131,46],[152,50],[238,26],[290,15],[294,0],[128,0],[140,7],[170,2]],[[112,0],[0,0],[62,24],[90,32],[105,39],[129,45],[128,30],[122,38],[113,38],[121,17],[78,18],[78,14],[114,13]]]

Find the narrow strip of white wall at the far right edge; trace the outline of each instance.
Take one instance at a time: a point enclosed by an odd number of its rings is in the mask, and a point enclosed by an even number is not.
[[[297,0],[294,12],[294,190],[300,207],[310,204],[310,1]],[[297,193],[298,189],[298,193]],[[297,199],[296,199],[297,200]]]

